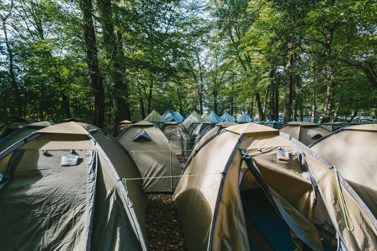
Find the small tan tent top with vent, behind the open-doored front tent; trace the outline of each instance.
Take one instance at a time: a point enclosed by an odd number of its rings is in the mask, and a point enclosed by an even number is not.
[[[288,122],[278,129],[302,142],[304,145],[310,145],[317,139],[330,133],[323,127],[311,122]]]

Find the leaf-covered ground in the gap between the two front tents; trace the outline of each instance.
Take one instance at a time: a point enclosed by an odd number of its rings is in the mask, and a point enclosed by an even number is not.
[[[183,168],[187,157],[178,159]],[[172,194],[150,193],[147,197],[146,225],[149,250],[188,250]]]

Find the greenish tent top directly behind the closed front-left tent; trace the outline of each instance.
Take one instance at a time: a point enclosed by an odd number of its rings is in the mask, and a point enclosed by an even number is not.
[[[2,141],[0,141],[0,153],[3,152],[5,149],[10,147],[11,145],[15,144],[16,142],[20,141],[23,138],[31,135],[32,133],[37,132],[38,130],[55,125],[54,122],[49,121],[41,121],[28,124],[26,126],[21,127],[15,132],[12,132],[8,136],[6,136]]]

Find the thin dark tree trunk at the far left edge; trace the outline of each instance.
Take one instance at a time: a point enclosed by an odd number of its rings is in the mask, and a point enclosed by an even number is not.
[[[20,91],[18,90],[18,85],[16,82],[15,74],[14,74],[13,53],[12,53],[11,45],[9,44],[8,33],[6,31],[6,19],[8,18],[8,16],[9,15],[7,15],[6,17],[1,16],[1,18],[2,18],[2,23],[3,23],[3,32],[4,32],[4,37],[5,37],[6,51],[8,52],[8,58],[9,58],[9,74],[11,75],[11,84],[12,84],[14,95],[16,98],[17,116],[21,117],[22,107],[21,107]]]

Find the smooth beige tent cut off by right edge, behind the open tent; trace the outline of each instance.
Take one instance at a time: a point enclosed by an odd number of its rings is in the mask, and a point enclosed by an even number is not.
[[[377,124],[349,126],[309,146],[351,185],[377,217]]]

